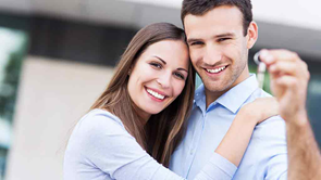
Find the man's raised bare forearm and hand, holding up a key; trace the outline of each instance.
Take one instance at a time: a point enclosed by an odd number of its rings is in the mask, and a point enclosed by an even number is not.
[[[321,179],[321,155],[310,127],[306,95],[309,81],[307,64],[286,50],[263,50],[273,94],[280,103],[280,115],[286,121],[288,179]]]

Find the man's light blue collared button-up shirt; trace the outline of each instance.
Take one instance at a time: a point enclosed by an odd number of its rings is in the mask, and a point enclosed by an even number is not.
[[[172,156],[170,169],[193,179],[214,154],[239,108],[262,97],[271,95],[258,88],[256,76],[250,75],[206,108],[205,87],[201,85],[196,90],[186,136]],[[230,162],[224,165],[224,171],[236,167]],[[280,116],[273,116],[255,128],[233,179],[275,180],[287,179],[286,176],[285,123]]]

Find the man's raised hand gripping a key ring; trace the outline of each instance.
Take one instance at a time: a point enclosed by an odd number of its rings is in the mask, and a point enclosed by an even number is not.
[[[288,50],[262,50],[260,60],[270,72],[271,90],[280,103],[280,115],[285,120],[306,123],[300,120],[307,117],[306,97],[310,78],[307,64]]]

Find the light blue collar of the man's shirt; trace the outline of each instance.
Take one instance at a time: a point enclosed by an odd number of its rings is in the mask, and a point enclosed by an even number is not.
[[[225,108],[233,113],[236,113],[238,108],[245,103],[245,101],[252,94],[252,92],[258,88],[258,81],[255,74],[236,85],[227,92],[222,94],[217,101],[212,102],[207,111],[210,111],[215,104],[221,104]],[[206,108],[206,97],[203,83],[197,88],[195,91],[195,103],[200,108]]]

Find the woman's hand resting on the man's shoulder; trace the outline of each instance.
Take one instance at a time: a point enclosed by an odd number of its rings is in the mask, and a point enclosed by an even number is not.
[[[244,105],[239,113],[248,120],[255,121],[255,125],[260,124],[271,116],[279,114],[279,103],[275,98],[259,98],[254,102]]]

